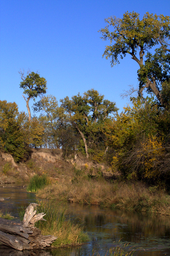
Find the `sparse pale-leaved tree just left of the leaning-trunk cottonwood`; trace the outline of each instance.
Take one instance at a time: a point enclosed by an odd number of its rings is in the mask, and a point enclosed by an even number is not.
[[[39,120],[44,127],[43,142],[49,147],[62,147],[66,157],[77,143],[72,127],[68,124],[64,108],[58,107],[56,97],[47,95],[34,103],[34,112],[41,112]],[[48,142],[47,142],[48,141]]]

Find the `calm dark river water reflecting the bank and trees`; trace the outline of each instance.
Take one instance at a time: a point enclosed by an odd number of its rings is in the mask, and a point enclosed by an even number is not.
[[[0,202],[0,209],[3,212],[11,212],[18,217],[18,207],[28,206],[35,202],[35,196],[27,193],[26,188],[20,186],[0,186],[0,197],[11,197]],[[56,202],[57,203],[57,202]],[[0,255],[11,256],[62,256],[73,255],[76,251],[78,255],[89,255],[92,250],[96,250],[101,255],[116,245],[129,243],[129,247],[135,246],[137,249],[134,255],[139,256],[170,256],[170,218],[160,217],[136,212],[124,212],[101,208],[98,206],[81,205],[63,202],[67,205],[70,216],[84,226],[84,231],[88,233],[90,241],[81,247],[62,248],[53,251],[36,252],[15,252],[14,250],[0,250]],[[119,240],[121,239],[121,242]]]

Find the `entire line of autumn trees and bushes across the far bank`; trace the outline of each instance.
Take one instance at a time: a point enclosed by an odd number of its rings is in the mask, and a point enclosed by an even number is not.
[[[20,88],[28,115],[15,102],[0,101],[0,149],[16,162],[29,148],[62,148],[63,157],[81,152],[96,163],[107,163],[127,179],[149,182],[169,179],[170,164],[170,17],[136,12],[105,19],[100,30],[109,40],[103,56],[111,66],[130,55],[138,65],[138,97],[118,113],[115,102],[90,89],[58,104],[45,95],[47,81],[34,72],[20,72]],[[148,93],[147,96],[146,93]],[[32,106],[29,100],[40,96]]]

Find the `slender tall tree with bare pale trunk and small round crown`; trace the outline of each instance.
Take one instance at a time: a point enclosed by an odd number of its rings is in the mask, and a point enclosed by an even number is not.
[[[24,71],[19,71],[21,75],[22,82],[20,83],[20,88],[24,89],[23,94],[26,94],[27,97],[23,96],[26,101],[26,106],[28,109],[28,120],[31,121],[31,111],[29,107],[29,100],[37,98],[39,95],[46,93],[47,81],[44,77],[40,77],[39,74],[34,72],[27,72],[25,76]]]

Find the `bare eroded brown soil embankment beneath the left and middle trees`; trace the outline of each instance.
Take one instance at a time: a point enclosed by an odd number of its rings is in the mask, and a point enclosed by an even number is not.
[[[70,157],[63,159],[61,149],[31,149],[31,156],[26,162],[16,164],[11,155],[0,152],[0,183],[29,182],[36,174],[47,174],[48,177],[59,180],[71,180],[76,170],[84,170],[86,174],[95,176],[97,171],[103,175],[112,175],[107,172],[104,165],[94,167],[91,161],[85,156]],[[77,171],[78,172],[78,171]]]

